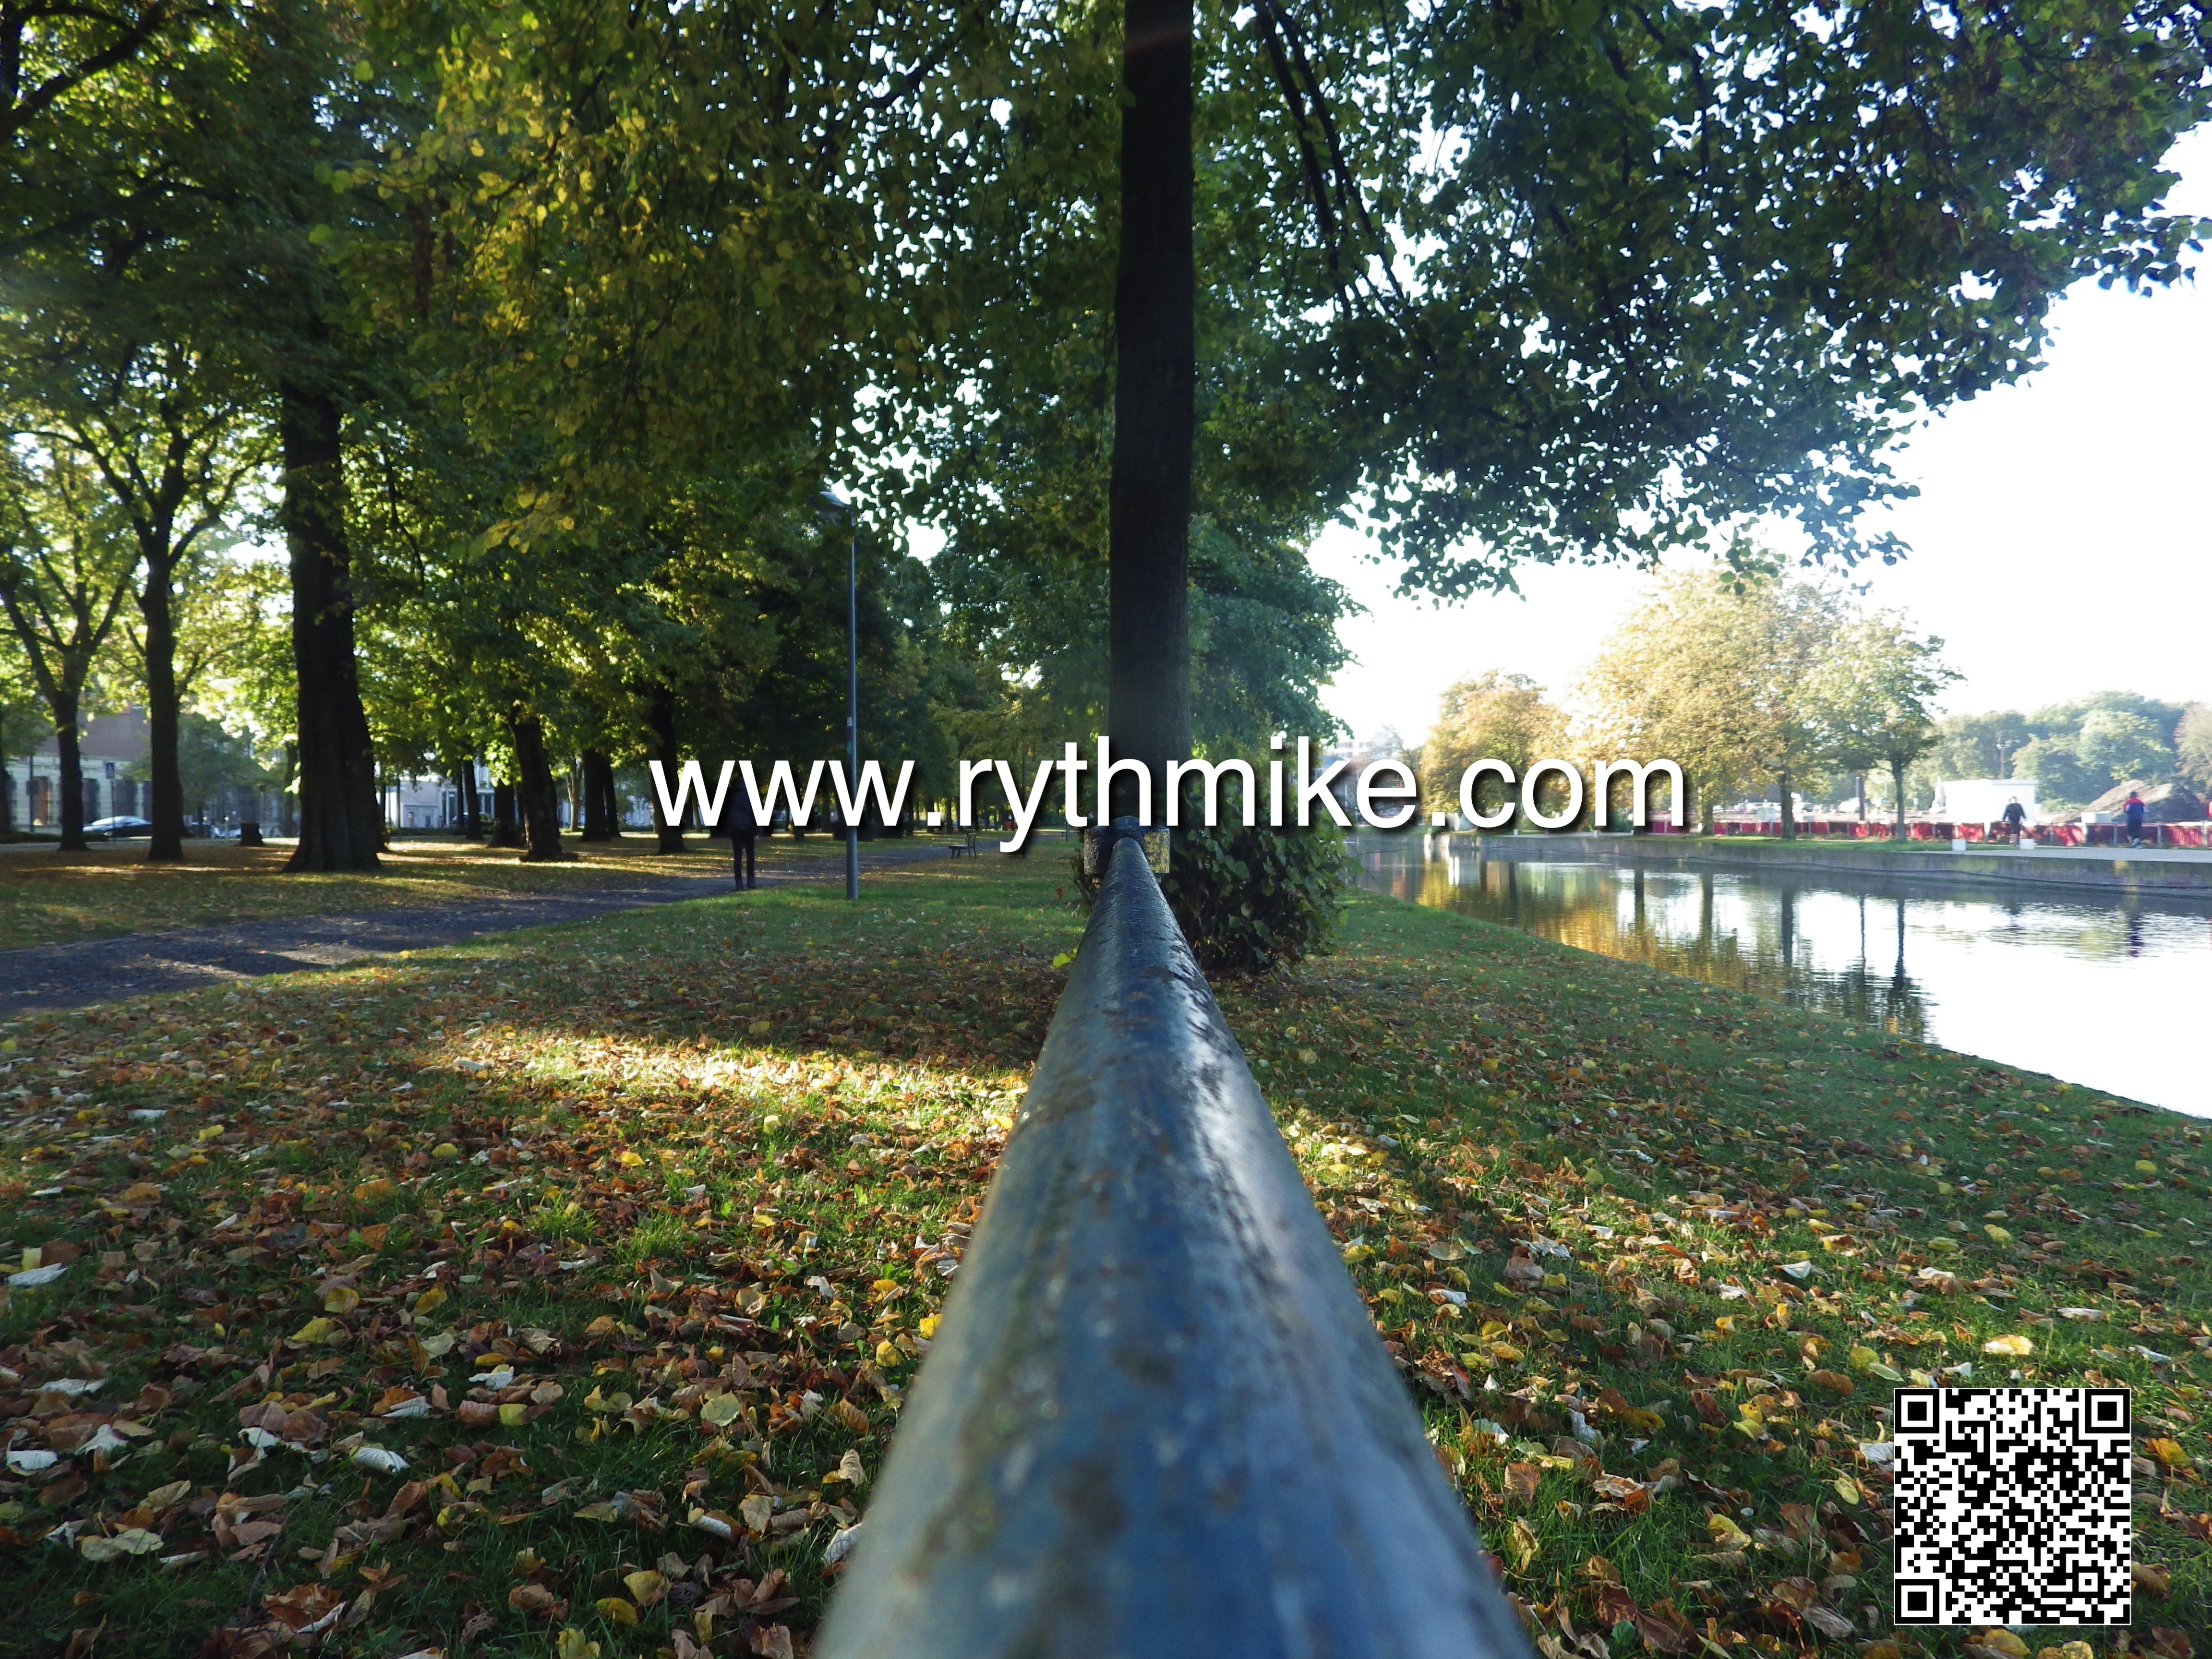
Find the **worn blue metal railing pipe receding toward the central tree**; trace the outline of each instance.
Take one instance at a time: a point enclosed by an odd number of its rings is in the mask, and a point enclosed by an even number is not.
[[[1528,1655],[1141,845],[816,1652]]]

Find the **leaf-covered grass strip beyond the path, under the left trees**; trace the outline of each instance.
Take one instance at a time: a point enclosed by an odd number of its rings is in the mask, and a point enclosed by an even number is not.
[[[653,836],[635,832],[613,843],[562,841],[575,860],[524,865],[511,847],[403,838],[374,876],[288,876],[290,843],[188,841],[181,865],[148,865],[144,841],[100,843],[82,854],[11,845],[0,847],[0,951],[170,927],[562,894],[639,876],[730,874],[730,843],[699,834],[681,854],[657,854]],[[843,847],[834,836],[796,843],[776,836],[761,843],[761,858],[772,869],[794,858],[841,856]]]

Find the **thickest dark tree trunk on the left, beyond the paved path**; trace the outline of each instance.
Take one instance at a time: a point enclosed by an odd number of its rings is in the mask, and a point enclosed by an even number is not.
[[[279,387],[283,531],[292,553],[292,659],[299,670],[299,847],[285,869],[376,869],[383,812],[376,750],[354,661],[338,403]]]

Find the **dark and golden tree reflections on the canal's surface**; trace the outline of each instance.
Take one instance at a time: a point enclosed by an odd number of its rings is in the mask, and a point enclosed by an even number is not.
[[[1661,876],[1615,865],[1520,858],[1396,863],[1387,856],[1369,856],[1367,885],[1597,956],[1796,1002],[1907,1037],[1924,1037],[1929,1026],[1927,993],[1905,969],[1902,898],[1860,896],[1856,960],[1820,967],[1798,925],[1796,887],[1730,876],[1717,880],[1703,872]],[[1717,889],[1739,911],[1732,925],[1714,918]],[[1823,938],[1820,945],[1834,951],[1840,942]]]

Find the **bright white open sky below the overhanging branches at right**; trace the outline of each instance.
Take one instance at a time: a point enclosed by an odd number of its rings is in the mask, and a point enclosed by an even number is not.
[[[2170,206],[2212,215],[2212,128],[2170,159]],[[1867,604],[1947,641],[1949,708],[2037,708],[2119,688],[2212,699],[2212,270],[2139,299],[2084,285],[2053,316],[2046,367],[1960,405],[1900,451],[1920,495],[1893,515],[1911,546],[1858,573]],[[2194,480],[2194,482],[2192,482]],[[1332,529],[1314,566],[1352,588],[1356,661],[1325,703],[1354,734],[1418,743],[1455,679],[1504,668],[1564,692],[1644,577],[1533,568],[1524,597],[1436,608],[1400,599],[1374,544]],[[1363,557],[1367,555],[1367,557]]]

